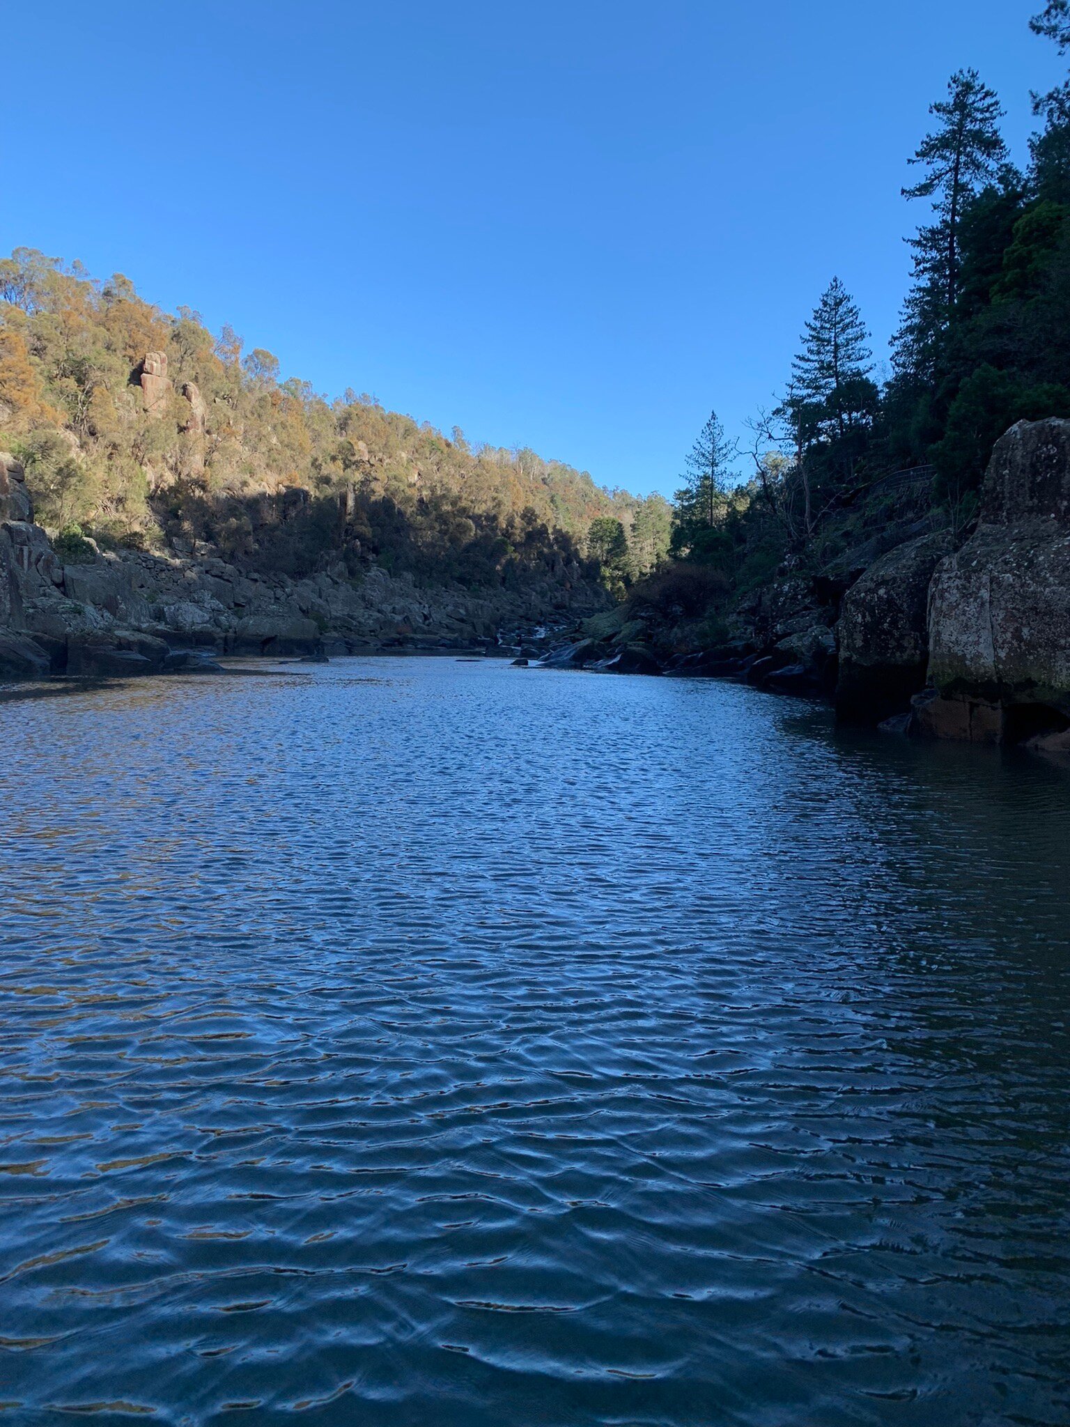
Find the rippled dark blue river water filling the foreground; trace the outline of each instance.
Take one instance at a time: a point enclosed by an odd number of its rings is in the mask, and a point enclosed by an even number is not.
[[[1070,1423],[1060,768],[454,659],[0,726],[0,1421]]]

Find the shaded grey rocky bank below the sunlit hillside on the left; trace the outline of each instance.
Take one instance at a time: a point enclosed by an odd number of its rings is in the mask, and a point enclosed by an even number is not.
[[[34,522],[0,454],[0,679],[204,671],[214,655],[495,648],[608,604],[579,565],[514,588],[417,585],[341,561],[305,579],[245,569],[204,544],[101,551]]]

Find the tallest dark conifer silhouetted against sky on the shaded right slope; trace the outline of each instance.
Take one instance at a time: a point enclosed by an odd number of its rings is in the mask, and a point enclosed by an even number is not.
[[[1003,110],[976,70],[954,73],[947,98],[930,104],[929,113],[940,123],[909,160],[929,171],[920,183],[903,188],[903,197],[932,198],[936,221],[909,240],[914,250],[914,290],[897,338],[900,365],[910,365],[932,345],[934,332],[953,320],[963,213],[970,198],[1007,168],[1007,146],[996,127]]]

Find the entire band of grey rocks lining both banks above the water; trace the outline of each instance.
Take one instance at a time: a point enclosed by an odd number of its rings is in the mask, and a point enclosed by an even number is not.
[[[0,679],[213,672],[220,656],[455,652],[539,668],[730,678],[920,738],[1070,751],[1070,421],[996,444],[976,528],[906,531],[840,579],[783,568],[703,642],[579,568],[514,589],[371,567],[264,575],[211,548],[63,558],[0,455]],[[564,631],[564,632],[562,632]]]

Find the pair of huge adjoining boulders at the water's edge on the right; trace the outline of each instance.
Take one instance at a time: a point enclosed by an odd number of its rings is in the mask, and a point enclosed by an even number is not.
[[[836,708],[924,738],[1017,743],[1070,728],[1070,421],[994,445],[977,524],[877,559],[843,598]]]

